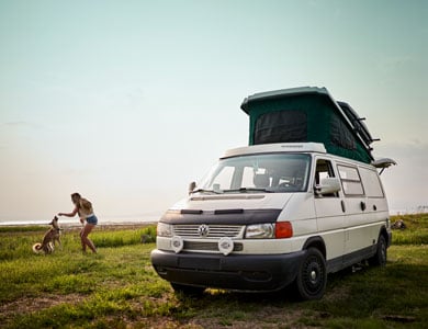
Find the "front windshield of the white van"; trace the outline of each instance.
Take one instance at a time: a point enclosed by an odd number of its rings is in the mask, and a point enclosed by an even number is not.
[[[222,159],[194,193],[304,192],[309,168],[309,155],[266,154]]]

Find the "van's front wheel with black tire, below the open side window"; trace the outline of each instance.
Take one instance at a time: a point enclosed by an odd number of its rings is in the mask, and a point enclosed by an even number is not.
[[[327,284],[326,260],[316,248],[308,248],[295,279],[295,290],[301,300],[319,299]]]

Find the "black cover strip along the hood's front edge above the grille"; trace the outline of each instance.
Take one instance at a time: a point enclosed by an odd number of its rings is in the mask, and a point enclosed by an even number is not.
[[[168,211],[159,222],[168,224],[264,224],[275,223],[282,209],[218,209],[201,213],[190,213],[189,209]]]

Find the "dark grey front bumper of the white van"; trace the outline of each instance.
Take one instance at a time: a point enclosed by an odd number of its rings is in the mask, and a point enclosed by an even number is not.
[[[304,251],[285,254],[207,254],[151,251],[162,279],[178,284],[240,291],[278,291],[292,283]]]

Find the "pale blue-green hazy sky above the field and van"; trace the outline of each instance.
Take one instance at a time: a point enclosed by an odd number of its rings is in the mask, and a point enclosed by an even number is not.
[[[228,148],[245,97],[326,87],[367,117],[392,211],[428,205],[428,1],[0,0],[0,223],[80,192],[158,219]]]

